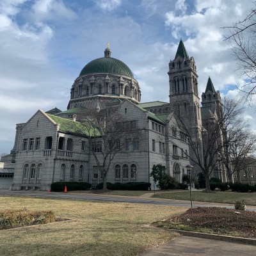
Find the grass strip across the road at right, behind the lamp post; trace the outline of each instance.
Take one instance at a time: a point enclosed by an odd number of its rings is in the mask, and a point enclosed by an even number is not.
[[[154,197],[154,196],[152,196]],[[190,200],[189,190],[156,193],[156,198]],[[203,191],[192,191],[193,201],[217,202],[224,204],[235,204],[238,200],[244,200],[246,205],[256,205],[256,193],[238,193],[238,192],[214,192],[205,193]]]

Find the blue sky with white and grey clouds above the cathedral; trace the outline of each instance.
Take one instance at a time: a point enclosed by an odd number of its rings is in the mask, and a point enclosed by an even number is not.
[[[38,109],[67,109],[84,65],[111,56],[131,68],[141,102],[169,102],[168,63],[180,38],[195,58],[198,89],[210,76],[221,95],[244,83],[223,27],[243,20],[251,0],[1,0],[0,154],[10,153],[16,124]],[[256,131],[255,108],[244,118]]]

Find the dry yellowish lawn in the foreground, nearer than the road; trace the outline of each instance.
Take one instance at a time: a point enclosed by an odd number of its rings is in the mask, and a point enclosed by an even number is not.
[[[46,225],[0,230],[1,256],[140,255],[175,233],[150,228],[153,221],[180,214],[184,207],[82,200],[0,196],[1,210],[51,210],[70,218]]]

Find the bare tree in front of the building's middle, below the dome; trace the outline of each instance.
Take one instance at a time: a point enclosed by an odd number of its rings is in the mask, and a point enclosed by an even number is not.
[[[103,189],[107,189],[109,167],[116,154],[138,141],[132,140],[134,134],[138,138],[136,121],[129,121],[120,114],[120,106],[111,102],[101,102],[103,108],[91,108],[82,116],[87,131],[88,148],[97,163]],[[136,146],[136,145],[135,145]]]

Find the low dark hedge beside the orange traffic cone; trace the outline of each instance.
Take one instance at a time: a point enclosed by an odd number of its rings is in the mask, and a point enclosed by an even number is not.
[[[86,182],[75,182],[75,181],[59,181],[51,184],[51,191],[61,192],[64,191],[67,186],[67,191],[72,190],[88,190],[91,188],[91,184]]]

